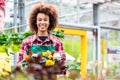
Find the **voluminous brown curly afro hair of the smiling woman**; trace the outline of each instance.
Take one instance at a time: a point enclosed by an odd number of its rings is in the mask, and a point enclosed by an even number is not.
[[[51,4],[36,4],[31,10],[30,16],[29,16],[29,25],[30,29],[33,33],[37,33],[38,28],[36,25],[36,18],[38,13],[44,13],[49,16],[50,19],[50,25],[48,27],[48,31],[52,31],[58,23],[58,13],[56,8]]]

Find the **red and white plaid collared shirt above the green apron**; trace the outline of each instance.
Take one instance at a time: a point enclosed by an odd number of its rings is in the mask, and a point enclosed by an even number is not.
[[[60,51],[62,53],[64,53],[64,48],[63,48],[63,44],[61,42],[61,40],[59,38],[57,38],[56,36],[53,35],[49,35],[44,41],[40,40],[39,37],[37,35],[32,35],[27,37],[25,40],[23,40],[22,44],[21,44],[21,48],[20,48],[20,52],[19,52],[19,60],[18,62],[20,62],[23,59],[23,56],[25,53],[27,53],[28,49],[31,48],[32,44],[35,45],[54,45],[54,49],[56,51]]]

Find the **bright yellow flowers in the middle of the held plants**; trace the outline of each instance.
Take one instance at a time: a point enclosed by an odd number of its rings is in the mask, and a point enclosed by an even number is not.
[[[54,65],[53,56],[50,51],[42,52],[42,57],[47,58],[47,60],[45,62],[45,66],[53,66]]]

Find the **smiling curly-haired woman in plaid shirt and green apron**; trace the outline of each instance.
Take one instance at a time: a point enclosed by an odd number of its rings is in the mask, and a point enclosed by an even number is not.
[[[35,49],[35,47],[39,47],[42,50],[56,51],[64,54],[64,48],[61,40],[51,35],[51,31],[54,30],[57,26],[58,22],[58,14],[53,5],[50,4],[37,4],[32,8],[32,11],[29,16],[29,24],[30,29],[34,33],[34,35],[27,37],[23,40],[20,53],[19,53],[19,62],[23,60],[23,56],[29,51],[32,52],[40,52],[40,50]],[[49,48],[48,48],[49,46]],[[43,48],[44,47],[44,48]],[[42,51],[41,51],[42,52]],[[63,55],[65,62],[65,54]],[[40,70],[41,72],[42,70]],[[53,69],[53,71],[55,71]],[[52,72],[53,72],[52,71]],[[62,71],[61,71],[62,73]],[[65,73],[65,71],[63,72]],[[54,80],[55,74],[47,74],[48,78],[46,80]],[[35,80],[43,80],[41,76],[34,75]]]

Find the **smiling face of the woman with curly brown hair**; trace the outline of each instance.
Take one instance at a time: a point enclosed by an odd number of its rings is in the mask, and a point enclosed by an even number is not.
[[[38,13],[36,24],[38,33],[46,33],[50,24],[49,16],[44,13]]]

